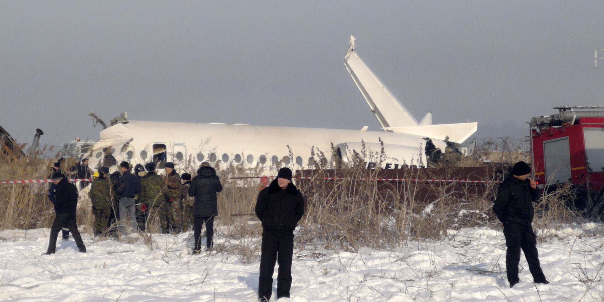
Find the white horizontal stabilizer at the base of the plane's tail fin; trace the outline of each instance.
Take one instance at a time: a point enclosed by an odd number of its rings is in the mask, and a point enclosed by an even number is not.
[[[422,137],[436,138],[437,140],[446,140],[449,137],[449,141],[461,144],[478,130],[478,123],[384,127],[384,130],[415,134]]]

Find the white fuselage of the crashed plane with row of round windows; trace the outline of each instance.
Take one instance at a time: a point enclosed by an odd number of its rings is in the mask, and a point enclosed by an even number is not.
[[[272,164],[272,156],[277,156],[279,161],[284,156],[289,156],[289,146],[294,158],[289,164],[282,165],[294,169],[312,168],[309,166],[312,147],[322,150],[329,160],[332,156],[332,143],[335,146],[364,141],[366,146],[370,146],[367,147],[368,150],[379,152],[376,147],[381,138],[385,144],[399,145],[404,149],[403,152],[395,152],[403,154],[387,154],[396,158],[388,159],[388,162],[407,164],[413,164],[412,158],[416,161],[414,164],[417,164],[419,157],[423,156],[425,146],[422,137],[408,133],[164,121],[129,121],[127,124],[116,124],[101,131],[100,136],[101,140],[95,144],[90,155],[91,167],[96,167],[103,159],[102,149],[108,146],[115,149],[114,156],[118,162],[129,161],[135,165],[152,159],[153,144],[165,144],[167,160],[175,162],[181,168],[184,162],[176,158],[178,151],[184,153],[185,160],[191,158],[197,163],[200,152],[203,155],[202,161],[208,161],[210,154],[214,153],[217,160],[222,161],[223,155],[226,154],[229,162],[236,163],[235,155],[239,154],[241,161],[250,165],[256,165],[260,156],[265,155],[264,165],[268,168]],[[123,148],[126,143],[127,148]],[[444,144],[442,142],[441,145]],[[127,158],[128,151],[132,151],[132,158]],[[147,153],[146,158],[141,156],[141,151]],[[253,156],[251,163],[247,161],[248,155]],[[302,159],[302,165],[296,163],[298,156]]]

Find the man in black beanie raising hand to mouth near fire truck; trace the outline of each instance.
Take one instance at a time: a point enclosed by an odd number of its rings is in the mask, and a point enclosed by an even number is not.
[[[533,202],[538,201],[540,191],[537,183],[533,179],[528,179],[530,172],[530,166],[526,162],[516,162],[510,176],[499,186],[497,199],[493,205],[493,212],[503,223],[503,234],[506,237],[506,271],[510,288],[520,281],[518,278],[520,249],[524,251],[528,269],[535,283],[550,283],[545,279],[539,265],[537,240],[531,225],[535,215]]]

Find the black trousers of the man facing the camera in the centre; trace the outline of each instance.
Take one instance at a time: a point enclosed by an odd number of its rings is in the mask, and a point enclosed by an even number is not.
[[[271,231],[262,233],[262,251],[260,254],[260,278],[258,280],[258,298],[269,300],[272,295],[272,274],[275,261],[279,265],[277,275],[277,299],[289,298],[292,287],[292,256],[294,255],[294,233],[276,234]]]

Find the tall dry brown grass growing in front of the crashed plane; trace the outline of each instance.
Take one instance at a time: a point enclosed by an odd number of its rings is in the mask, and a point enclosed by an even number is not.
[[[511,154],[511,153],[510,153]],[[291,156],[291,158],[294,158]],[[377,181],[359,180],[376,178],[379,170],[365,169],[366,162],[382,162],[387,159],[384,152],[371,153],[361,150],[350,154],[350,162],[336,162],[338,176],[344,181],[326,181],[327,164],[330,162],[324,152],[313,150],[315,178],[298,181],[297,185],[306,196],[306,215],[300,221],[300,231],[295,237],[301,248],[333,248],[356,250],[362,246],[376,249],[405,245],[408,240],[443,239],[452,236],[452,230],[472,226],[498,228],[492,213],[492,201],[497,185],[489,182],[480,193],[472,184],[422,184],[405,181],[383,184]],[[418,156],[417,158],[421,158]],[[50,173],[54,159],[15,158],[0,153],[0,178],[45,179]],[[73,161],[73,160],[71,160]],[[65,163],[66,169],[72,162]],[[475,160],[450,158],[440,165],[445,170],[471,165]],[[189,159],[185,171],[194,175],[199,163]],[[417,162],[421,165],[421,161]],[[476,164],[476,163],[475,163]],[[275,175],[283,162],[269,165],[231,164],[217,169],[224,190],[219,193],[219,217],[216,219],[217,236],[233,240],[233,244],[221,247],[233,252],[242,261],[253,261],[259,246],[257,238],[262,227],[254,216],[257,194],[262,188],[260,179],[235,179],[246,176]],[[379,166],[379,164],[378,164]],[[224,167],[220,162],[215,167]],[[411,170],[419,178],[422,169]],[[501,175],[487,176],[489,181],[501,180]],[[54,211],[46,196],[48,184],[2,184],[0,185],[0,230],[49,227]],[[536,205],[535,227],[557,228],[580,219],[565,206],[565,189],[547,194]],[[426,200],[427,196],[435,196]],[[84,233],[93,234],[94,216],[91,202],[82,198],[79,202],[78,221]],[[141,233],[144,242],[153,247],[153,233],[158,232],[157,222],[150,220],[147,232]],[[542,234],[547,235],[547,234]]]

